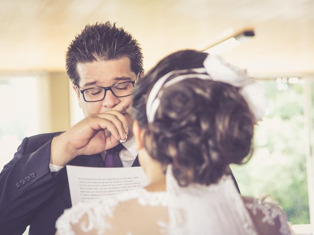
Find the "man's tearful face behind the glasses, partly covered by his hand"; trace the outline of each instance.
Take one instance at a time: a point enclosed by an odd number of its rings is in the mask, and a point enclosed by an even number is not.
[[[89,63],[78,63],[79,89],[85,90],[93,87],[109,87],[113,84],[134,81],[137,74],[131,71],[131,62],[128,57],[117,60],[94,61]],[[104,113],[113,109],[122,100],[130,97],[116,97],[111,91],[106,91],[105,98],[97,102],[86,102],[82,94],[74,87],[78,96],[79,107],[84,116],[90,114]],[[131,115],[123,113],[128,119],[129,130],[131,130]]]

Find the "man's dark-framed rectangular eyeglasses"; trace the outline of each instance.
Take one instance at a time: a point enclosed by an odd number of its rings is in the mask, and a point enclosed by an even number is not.
[[[136,78],[137,80],[137,78]],[[113,84],[110,87],[93,87],[87,88],[85,90],[79,90],[83,94],[83,98],[86,102],[97,102],[105,98],[106,91],[111,91],[112,94],[116,97],[125,97],[131,94],[135,81],[130,82],[121,82]]]

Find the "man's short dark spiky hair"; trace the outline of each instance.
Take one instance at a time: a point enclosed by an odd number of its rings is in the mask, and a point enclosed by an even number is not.
[[[138,42],[122,27],[110,22],[87,24],[71,42],[66,52],[66,70],[72,83],[78,86],[78,63],[116,60],[127,56],[131,70],[143,72],[143,54]]]

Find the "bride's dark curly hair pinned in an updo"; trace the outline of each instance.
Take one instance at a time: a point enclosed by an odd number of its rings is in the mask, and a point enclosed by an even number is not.
[[[132,115],[145,129],[144,146],[164,167],[171,164],[180,186],[216,183],[229,164],[251,151],[254,118],[232,85],[188,78],[162,89],[154,121],[146,101],[156,81],[170,71],[202,68],[207,53],[183,50],[161,60],[135,86]]]

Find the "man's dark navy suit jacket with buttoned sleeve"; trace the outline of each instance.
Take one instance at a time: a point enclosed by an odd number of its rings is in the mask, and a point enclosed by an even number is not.
[[[52,138],[47,133],[25,138],[0,173],[0,234],[54,235],[55,221],[70,208],[66,167],[51,172]],[[70,165],[105,167],[100,154],[78,156]],[[139,166],[137,158],[132,166]],[[21,182],[21,180],[23,180]],[[19,183],[19,185],[17,185]]]

